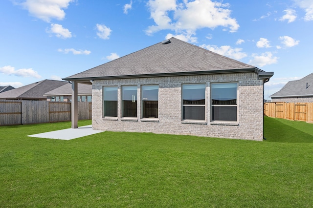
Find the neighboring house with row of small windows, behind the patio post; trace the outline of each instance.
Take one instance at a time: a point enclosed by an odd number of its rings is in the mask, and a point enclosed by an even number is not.
[[[91,85],[78,83],[78,102],[91,102]],[[44,94],[47,101],[71,102],[72,85],[66,83]]]

